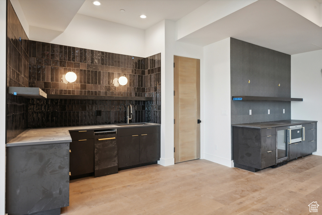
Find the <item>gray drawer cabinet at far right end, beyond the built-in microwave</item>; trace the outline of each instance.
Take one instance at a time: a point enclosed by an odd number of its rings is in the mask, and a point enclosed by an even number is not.
[[[311,154],[317,151],[317,123],[303,124],[304,140],[302,140],[302,156]]]

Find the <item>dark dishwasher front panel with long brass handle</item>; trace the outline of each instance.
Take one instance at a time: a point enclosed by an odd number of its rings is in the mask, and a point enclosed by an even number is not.
[[[114,173],[118,173],[118,146],[116,134],[95,135],[94,175],[95,177],[100,177]]]

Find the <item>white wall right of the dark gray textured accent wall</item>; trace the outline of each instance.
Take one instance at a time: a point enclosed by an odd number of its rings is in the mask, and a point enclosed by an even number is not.
[[[317,121],[317,152],[322,156],[322,50],[291,55],[291,118]]]

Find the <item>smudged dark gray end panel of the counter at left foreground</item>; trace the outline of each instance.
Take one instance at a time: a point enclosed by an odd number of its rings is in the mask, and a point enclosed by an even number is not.
[[[69,155],[69,143],[7,147],[5,212],[60,214],[69,206]]]

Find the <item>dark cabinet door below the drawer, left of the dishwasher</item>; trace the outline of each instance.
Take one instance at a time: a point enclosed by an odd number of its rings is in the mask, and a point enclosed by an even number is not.
[[[70,143],[71,177],[94,172],[94,139],[75,140]]]

